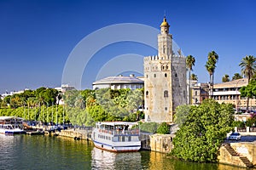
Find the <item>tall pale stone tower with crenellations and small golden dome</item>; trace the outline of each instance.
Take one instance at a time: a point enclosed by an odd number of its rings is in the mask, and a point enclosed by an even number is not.
[[[177,105],[187,103],[186,58],[172,51],[166,17],[160,25],[158,55],[144,58],[146,122],[173,122]]]

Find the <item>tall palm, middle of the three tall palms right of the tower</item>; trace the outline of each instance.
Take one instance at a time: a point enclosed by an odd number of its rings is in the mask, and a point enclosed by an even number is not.
[[[215,51],[210,52],[208,54],[208,60],[205,66],[210,75],[210,86],[212,86],[211,96],[213,95],[214,71],[215,71],[217,62],[218,62],[218,54],[216,54]]]

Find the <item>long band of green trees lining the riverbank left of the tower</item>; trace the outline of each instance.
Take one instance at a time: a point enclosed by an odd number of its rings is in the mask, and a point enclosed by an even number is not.
[[[59,105],[61,99],[65,105]],[[143,118],[140,107],[143,107],[143,88],[71,90],[65,94],[53,88],[38,88],[5,97],[0,116],[92,126],[102,121],[138,121]]]

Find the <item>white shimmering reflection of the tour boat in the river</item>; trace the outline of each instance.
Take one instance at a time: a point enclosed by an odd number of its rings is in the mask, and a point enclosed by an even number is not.
[[[140,169],[141,153],[115,153],[100,150],[96,147],[91,150],[92,169]]]

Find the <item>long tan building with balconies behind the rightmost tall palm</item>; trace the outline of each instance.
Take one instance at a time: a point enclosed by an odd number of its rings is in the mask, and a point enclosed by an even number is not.
[[[213,99],[218,103],[228,103],[234,105],[236,111],[240,109],[246,110],[247,98],[241,97],[240,89],[243,86],[247,86],[247,78],[241,78],[238,80],[223,82],[214,84],[213,86]],[[255,111],[256,99],[249,100],[249,110]]]

